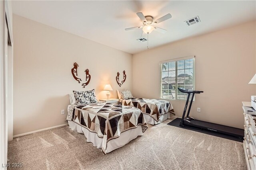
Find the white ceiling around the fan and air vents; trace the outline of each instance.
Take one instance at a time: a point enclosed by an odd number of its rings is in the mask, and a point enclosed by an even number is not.
[[[12,10],[131,54],[147,50],[147,42],[136,41],[142,29],[124,30],[142,25],[137,12],[154,19],[172,14],[171,19],[156,25],[167,29],[165,34],[149,34],[150,48],[256,19],[256,1],[12,1]],[[200,23],[184,23],[195,16]]]

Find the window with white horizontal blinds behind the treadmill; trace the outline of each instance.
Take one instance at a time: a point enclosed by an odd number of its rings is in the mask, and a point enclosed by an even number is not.
[[[186,100],[187,94],[178,87],[194,90],[195,59],[185,57],[160,63],[160,98]]]

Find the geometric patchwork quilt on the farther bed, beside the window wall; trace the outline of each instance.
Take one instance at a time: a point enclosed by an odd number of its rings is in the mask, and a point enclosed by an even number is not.
[[[172,104],[167,100],[130,98],[119,100],[124,106],[132,106],[140,109],[142,113],[150,115],[155,121],[159,121],[159,117],[164,113],[172,113],[175,115]]]

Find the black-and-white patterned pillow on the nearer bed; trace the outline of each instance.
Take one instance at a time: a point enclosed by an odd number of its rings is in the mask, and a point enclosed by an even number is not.
[[[94,89],[84,92],[73,91],[73,93],[76,99],[76,104],[89,104],[97,102]]]

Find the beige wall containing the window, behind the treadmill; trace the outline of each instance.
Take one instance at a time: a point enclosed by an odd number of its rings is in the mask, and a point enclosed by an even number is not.
[[[135,54],[133,95],[159,98],[159,62],[195,55],[195,87],[204,93],[196,95],[191,116],[243,128],[241,102],[256,94],[255,85],[248,84],[256,73],[255,25],[255,21],[244,23]],[[170,101],[181,117],[185,102]]]

